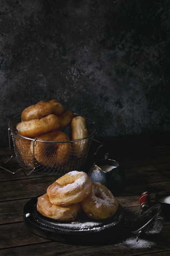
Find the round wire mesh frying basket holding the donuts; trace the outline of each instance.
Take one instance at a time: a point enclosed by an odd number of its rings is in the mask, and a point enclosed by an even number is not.
[[[75,114],[75,116],[78,116]],[[96,132],[96,125],[86,118],[88,136],[70,141],[40,141],[19,135],[16,124],[21,122],[17,115],[9,121],[9,136],[12,137],[15,157],[22,168],[46,175],[64,175],[69,171],[81,170]],[[71,137],[70,128],[64,132]],[[10,141],[10,139],[9,139]]]

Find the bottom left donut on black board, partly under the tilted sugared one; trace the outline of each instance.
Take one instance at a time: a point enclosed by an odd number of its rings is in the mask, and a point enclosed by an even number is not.
[[[81,204],[71,204],[69,206],[58,206],[52,204],[48,195],[38,197],[37,210],[43,216],[58,221],[73,221],[77,218],[77,214],[81,211]]]

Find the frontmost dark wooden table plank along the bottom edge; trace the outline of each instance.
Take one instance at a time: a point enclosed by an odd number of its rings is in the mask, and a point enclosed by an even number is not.
[[[146,242],[147,245],[147,242]],[[148,243],[149,246],[149,243]],[[94,255],[116,255],[116,256],[167,256],[170,254],[170,250],[167,251],[160,251],[154,250],[153,248],[137,248],[137,249],[130,249],[124,248],[121,249],[118,246],[113,248],[110,246],[110,250],[108,247],[96,247],[96,246],[73,246],[70,245],[66,247],[65,245],[59,245],[58,243],[45,243],[40,245],[29,245],[25,247],[17,247],[12,249],[4,249],[1,252],[1,256],[9,256],[9,255],[30,255],[30,256],[40,256],[42,252],[45,252],[46,256],[94,256]]]

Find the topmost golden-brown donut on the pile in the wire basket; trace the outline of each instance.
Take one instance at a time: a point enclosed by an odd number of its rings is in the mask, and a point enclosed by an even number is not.
[[[35,105],[25,108],[21,113],[21,120],[28,121],[32,119],[40,119],[47,115],[60,115],[64,111],[62,104],[55,99],[51,101],[39,101]]]

